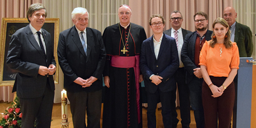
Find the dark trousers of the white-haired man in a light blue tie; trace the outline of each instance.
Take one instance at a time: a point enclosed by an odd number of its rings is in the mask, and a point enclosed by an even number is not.
[[[67,92],[74,128],[100,128],[102,90],[95,92]]]

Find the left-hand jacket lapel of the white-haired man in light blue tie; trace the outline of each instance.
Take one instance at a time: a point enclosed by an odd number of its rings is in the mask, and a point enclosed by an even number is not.
[[[75,26],[73,26],[73,28],[72,28],[70,33],[72,33],[72,40],[73,40],[74,44],[76,45],[77,49],[79,49],[81,54],[83,54],[84,58],[86,58],[86,54],[84,52],[82,42],[80,40],[80,37],[79,37],[79,35],[77,33],[77,29],[76,29]]]

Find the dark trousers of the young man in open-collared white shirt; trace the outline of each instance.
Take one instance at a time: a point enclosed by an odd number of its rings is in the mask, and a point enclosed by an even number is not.
[[[156,128],[156,107],[159,100],[162,104],[163,124],[165,128],[172,128],[171,92],[161,92],[159,89],[155,93],[147,92],[148,128]]]

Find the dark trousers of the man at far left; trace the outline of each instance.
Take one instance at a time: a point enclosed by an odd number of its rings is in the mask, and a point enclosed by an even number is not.
[[[52,119],[52,106],[54,91],[49,84],[41,97],[24,99],[20,98],[22,112],[22,128],[33,128],[36,119],[36,128],[50,128]]]

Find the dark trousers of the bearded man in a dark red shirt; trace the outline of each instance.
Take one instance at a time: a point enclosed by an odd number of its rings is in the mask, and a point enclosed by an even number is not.
[[[204,128],[204,108],[202,104],[202,83],[204,79],[194,78],[188,83],[190,104],[194,110],[196,128]]]

